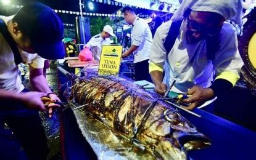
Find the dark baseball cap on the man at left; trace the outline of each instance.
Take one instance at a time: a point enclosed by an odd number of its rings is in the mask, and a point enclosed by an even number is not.
[[[33,2],[23,6],[14,16],[20,31],[30,38],[36,53],[48,60],[65,56],[64,26],[62,20],[50,7]]]

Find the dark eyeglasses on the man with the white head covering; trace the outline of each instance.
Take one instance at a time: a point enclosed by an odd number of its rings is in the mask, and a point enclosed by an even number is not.
[[[218,28],[207,28],[207,26],[200,25],[197,22],[191,20],[189,16],[187,18],[187,28],[189,31],[202,33],[206,36],[216,36],[218,33],[220,33],[221,27],[222,25]]]

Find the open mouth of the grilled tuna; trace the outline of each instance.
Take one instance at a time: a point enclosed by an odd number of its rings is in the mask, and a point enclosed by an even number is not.
[[[211,144],[210,139],[202,134],[180,134],[178,141],[186,151],[207,148]]]

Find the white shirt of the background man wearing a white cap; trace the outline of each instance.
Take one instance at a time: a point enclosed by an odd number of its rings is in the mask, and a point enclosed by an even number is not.
[[[103,39],[101,37],[101,33],[97,34],[96,36],[93,36],[88,43],[86,43],[86,47],[91,49],[91,52],[93,52],[93,58],[95,60],[99,60],[101,58],[101,50],[103,45],[110,45],[111,41],[109,38]]]

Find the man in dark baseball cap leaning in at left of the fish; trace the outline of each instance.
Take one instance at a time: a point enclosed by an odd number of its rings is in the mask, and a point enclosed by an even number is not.
[[[6,123],[20,139],[28,159],[47,158],[46,136],[38,110],[47,110],[41,97],[47,95],[51,102],[59,98],[49,89],[43,67],[45,59],[64,58],[63,34],[60,18],[39,2],[23,6],[14,16],[0,17],[0,132]],[[22,62],[30,66],[30,83],[35,92],[26,90],[18,75],[17,65]],[[4,142],[1,141],[0,157],[19,159],[15,151],[8,154],[12,152],[7,147],[10,144]]]

